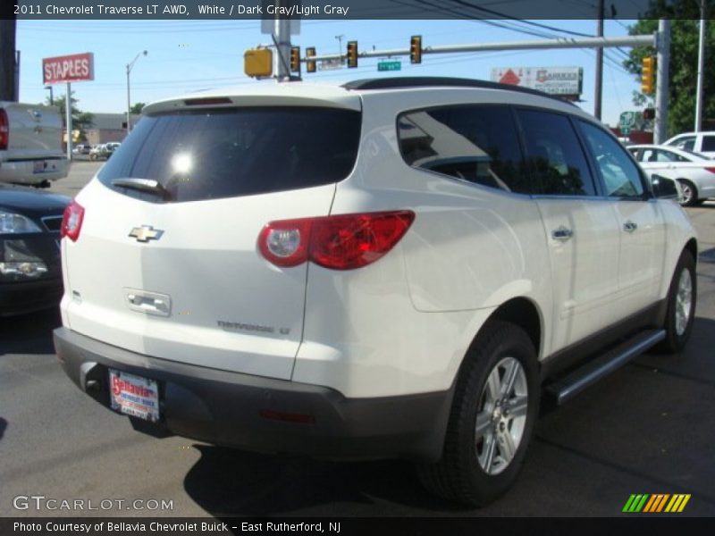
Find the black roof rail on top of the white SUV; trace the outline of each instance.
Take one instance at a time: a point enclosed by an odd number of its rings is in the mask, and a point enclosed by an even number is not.
[[[475,80],[463,78],[450,78],[441,76],[404,76],[393,78],[375,78],[362,79],[346,82],[342,88],[346,89],[400,89],[400,88],[486,88],[486,89],[505,89],[507,91],[517,91],[518,93],[527,93],[529,95],[545,96],[556,99],[562,103],[568,103],[575,106],[574,103],[563,99],[559,96],[549,95],[543,91],[532,88],[521,88],[520,86],[512,86],[509,84],[500,84],[499,82],[491,82],[488,80]]]

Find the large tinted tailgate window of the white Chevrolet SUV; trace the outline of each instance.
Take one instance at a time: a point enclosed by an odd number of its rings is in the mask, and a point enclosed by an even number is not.
[[[144,117],[99,172],[128,196],[198,201],[310,188],[345,179],[360,113],[311,107],[192,110]],[[164,196],[113,185],[156,180]]]

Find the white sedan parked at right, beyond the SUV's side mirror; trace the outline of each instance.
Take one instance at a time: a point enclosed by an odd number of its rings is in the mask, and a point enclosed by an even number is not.
[[[694,206],[715,197],[715,162],[703,155],[669,146],[628,147],[650,174],[677,180],[683,192],[681,205]]]

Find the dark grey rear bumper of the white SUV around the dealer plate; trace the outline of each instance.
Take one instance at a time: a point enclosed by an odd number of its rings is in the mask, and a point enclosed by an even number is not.
[[[109,368],[158,381],[161,423],[142,422],[140,431],[328,459],[436,461],[442,455],[451,389],[345,398],[321,386],[142,356],[67,328],[54,338],[64,372],[104,406],[110,406]]]

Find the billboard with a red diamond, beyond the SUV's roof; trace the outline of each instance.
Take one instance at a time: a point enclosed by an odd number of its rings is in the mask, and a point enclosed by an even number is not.
[[[551,95],[581,95],[584,70],[581,67],[495,67],[492,81],[532,88]]]

